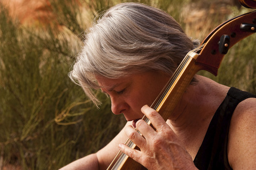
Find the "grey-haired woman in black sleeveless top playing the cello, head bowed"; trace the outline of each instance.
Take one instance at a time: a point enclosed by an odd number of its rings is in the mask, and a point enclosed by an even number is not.
[[[87,34],[70,77],[96,105],[92,89],[108,94],[113,113],[128,122],[106,147],[63,169],[106,169],[119,150],[148,169],[255,167],[254,95],[195,76],[167,122],[147,106],[197,44],[159,9],[123,3],[106,11]],[[141,151],[122,144],[127,137]]]

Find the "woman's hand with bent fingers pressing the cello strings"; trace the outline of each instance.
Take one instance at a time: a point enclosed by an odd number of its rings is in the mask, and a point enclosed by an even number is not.
[[[140,151],[125,144],[119,144],[119,149],[147,169],[196,169],[191,156],[161,115],[148,106],[143,106],[141,111],[156,130],[144,120],[138,120],[136,128],[143,136],[132,126],[127,126],[125,133]]]

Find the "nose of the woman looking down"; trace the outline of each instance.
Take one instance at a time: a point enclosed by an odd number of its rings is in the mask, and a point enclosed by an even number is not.
[[[121,114],[128,108],[123,99],[111,97],[111,110],[114,114]]]

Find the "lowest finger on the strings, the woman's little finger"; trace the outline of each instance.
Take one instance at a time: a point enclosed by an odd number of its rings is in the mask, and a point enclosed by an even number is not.
[[[127,147],[125,144],[120,143],[118,145],[118,148],[120,151],[122,151],[125,155],[129,156],[130,158],[132,158],[133,160],[137,161],[137,162],[141,162],[141,151],[132,149],[130,147]]]

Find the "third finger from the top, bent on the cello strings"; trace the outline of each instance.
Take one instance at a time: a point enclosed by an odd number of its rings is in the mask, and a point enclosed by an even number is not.
[[[140,149],[144,149],[146,139],[142,137],[138,131],[136,131],[132,126],[127,126],[125,127],[124,132]]]

